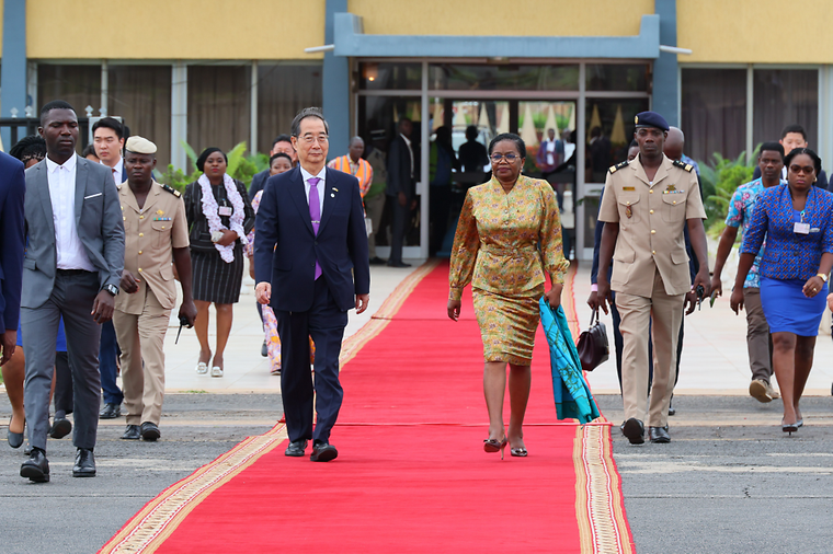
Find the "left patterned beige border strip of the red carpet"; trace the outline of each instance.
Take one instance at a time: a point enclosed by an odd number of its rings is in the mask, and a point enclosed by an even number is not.
[[[400,282],[381,308],[357,333],[342,344],[340,367],[352,360],[369,341],[390,323],[402,303],[419,282],[437,265],[429,261]],[[278,423],[255,437],[249,437],[213,462],[203,465],[187,477],[162,490],[130,518],[127,523],[101,547],[101,554],[152,553],[164,543],[208,495],[221,487],[262,455],[279,446],[286,436],[286,425]]]

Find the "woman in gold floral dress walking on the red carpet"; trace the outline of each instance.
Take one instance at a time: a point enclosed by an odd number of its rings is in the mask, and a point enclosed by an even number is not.
[[[529,400],[535,332],[545,295],[545,272],[552,288],[550,305],[561,303],[569,266],[561,247],[556,194],[546,181],[521,175],[526,147],[517,135],[502,134],[489,145],[492,178],[466,195],[452,249],[448,316],[460,314],[463,287],[471,282],[475,314],[483,341],[483,395],[489,411],[487,452],[506,442],[515,457],[527,454],[523,423]],[[509,363],[511,416],[503,425]]]

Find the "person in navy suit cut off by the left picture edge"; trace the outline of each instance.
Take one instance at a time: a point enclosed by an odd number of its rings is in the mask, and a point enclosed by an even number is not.
[[[0,152],[0,366],[12,359],[23,280],[23,164]],[[11,440],[11,439],[10,439]]]

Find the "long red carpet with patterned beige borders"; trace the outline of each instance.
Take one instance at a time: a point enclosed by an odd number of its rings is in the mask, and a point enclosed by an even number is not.
[[[278,426],[163,492],[102,552],[632,552],[609,426],[556,420],[543,333],[529,457],[483,452],[479,330],[470,296],[458,323],[445,315],[447,275],[418,270],[345,344],[335,461],[284,457]]]

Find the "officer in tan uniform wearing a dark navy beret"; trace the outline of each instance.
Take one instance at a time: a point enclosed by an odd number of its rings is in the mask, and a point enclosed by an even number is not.
[[[636,117],[639,155],[611,168],[598,219],[605,222],[598,258],[598,301],[607,312],[611,290],[621,315],[623,434],[644,442],[646,416],[651,442],[669,442],[667,413],[674,391],[680,324],[686,296],[703,287],[709,295],[706,232],[694,168],[662,153],[669,124],[654,112]],[[699,270],[692,285],[684,227]],[[613,276],[607,269],[613,258]],[[648,328],[653,320],[653,383],[648,406]],[[646,413],[647,412],[647,413]]]

